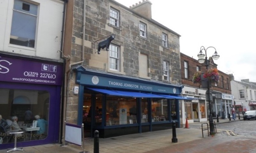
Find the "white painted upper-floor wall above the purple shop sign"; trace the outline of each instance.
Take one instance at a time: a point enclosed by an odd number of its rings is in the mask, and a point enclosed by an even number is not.
[[[64,2],[33,0],[38,4],[35,48],[9,43],[14,0],[0,0],[0,51],[60,60],[61,29]]]

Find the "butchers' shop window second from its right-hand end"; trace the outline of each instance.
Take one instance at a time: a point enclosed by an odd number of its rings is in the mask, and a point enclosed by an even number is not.
[[[151,105],[152,122],[169,120],[167,99],[152,99]]]

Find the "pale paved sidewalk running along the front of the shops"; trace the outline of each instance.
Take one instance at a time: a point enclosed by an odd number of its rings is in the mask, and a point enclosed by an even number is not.
[[[242,120],[242,119],[241,119]],[[239,121],[225,119],[219,120],[216,124],[224,122]],[[202,122],[190,123],[191,126],[201,126]],[[218,130],[218,129],[217,129]],[[206,132],[207,133],[207,132]],[[100,138],[99,147],[100,153],[143,153],[153,151],[156,149],[166,148],[184,142],[190,142],[199,139],[209,139],[211,137],[202,137],[201,128],[176,128],[177,143],[172,143],[172,129],[145,132],[140,134],[123,135],[111,138]],[[85,151],[93,153],[93,138],[85,139]],[[39,146],[24,147],[25,153],[78,153],[84,152],[81,146],[75,144],[68,144],[62,147],[60,144],[46,144]],[[0,153],[6,153],[6,149],[0,150]]]

